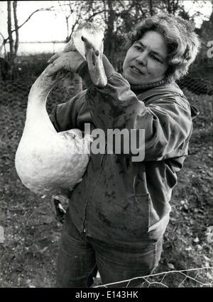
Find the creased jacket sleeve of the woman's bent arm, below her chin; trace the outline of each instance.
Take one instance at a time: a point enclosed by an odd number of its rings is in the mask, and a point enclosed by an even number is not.
[[[104,62],[104,68],[109,61]],[[110,64],[111,66],[111,64]],[[93,84],[87,89],[87,105],[97,128],[105,135],[109,129],[145,130],[144,160],[163,160],[182,156],[187,138],[192,131],[190,105],[186,105],[181,95],[159,95],[149,105],[138,100],[127,80],[108,68],[108,83],[104,88]],[[105,69],[106,70],[106,69]],[[139,135],[139,134],[138,134]],[[135,155],[136,150],[129,148]]]

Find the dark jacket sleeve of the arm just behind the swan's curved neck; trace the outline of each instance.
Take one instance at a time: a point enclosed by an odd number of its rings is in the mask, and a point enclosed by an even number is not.
[[[49,118],[57,132],[78,128],[77,116],[84,102],[85,93],[85,90],[81,91],[66,103],[55,106]]]

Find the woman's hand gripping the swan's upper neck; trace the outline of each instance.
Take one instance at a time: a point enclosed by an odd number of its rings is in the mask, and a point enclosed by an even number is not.
[[[52,58],[48,60],[50,68],[48,68],[47,76],[52,76],[58,71],[72,71],[77,72],[77,69],[84,62],[84,58],[78,51],[69,51],[56,53]]]

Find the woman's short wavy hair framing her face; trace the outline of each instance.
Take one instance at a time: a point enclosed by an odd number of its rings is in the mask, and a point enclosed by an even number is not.
[[[180,16],[158,14],[137,24],[127,36],[126,47],[142,38],[146,31],[157,31],[162,34],[168,49],[168,82],[179,80],[195,61],[200,48],[200,41],[190,21]]]

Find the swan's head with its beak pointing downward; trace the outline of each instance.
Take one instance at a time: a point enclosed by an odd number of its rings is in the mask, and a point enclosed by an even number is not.
[[[104,31],[97,24],[80,24],[72,36],[76,50],[87,61],[89,74],[94,85],[107,85],[102,56],[104,51]]]

